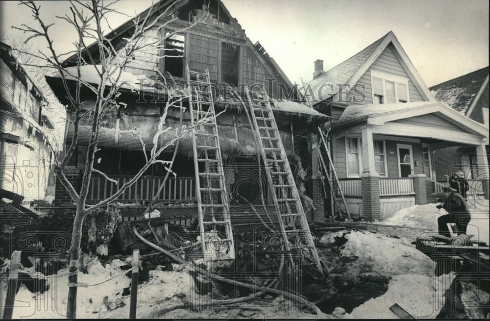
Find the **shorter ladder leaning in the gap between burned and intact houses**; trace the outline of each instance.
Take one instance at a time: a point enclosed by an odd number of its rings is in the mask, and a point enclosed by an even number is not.
[[[332,157],[330,156],[330,150],[328,149],[327,137],[331,132],[331,121],[326,123],[325,132],[318,127],[320,133],[320,143],[317,144],[319,163],[320,163],[320,177],[323,183],[323,191],[325,192],[325,197],[327,197],[327,186],[325,180],[328,182],[329,191],[332,196],[332,200],[335,204],[335,209],[339,212],[341,216],[344,216],[347,220],[351,220],[349,209],[347,208],[347,202],[343,196],[342,188],[340,186],[339,177],[335,171],[334,163],[332,162]],[[333,217],[333,215],[332,215]]]

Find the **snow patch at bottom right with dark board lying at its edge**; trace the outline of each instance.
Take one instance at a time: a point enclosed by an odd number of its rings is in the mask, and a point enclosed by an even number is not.
[[[344,318],[396,319],[390,307],[397,303],[415,318],[435,319],[444,305],[445,290],[453,279],[452,272],[439,277],[395,275],[384,295],[368,300]]]

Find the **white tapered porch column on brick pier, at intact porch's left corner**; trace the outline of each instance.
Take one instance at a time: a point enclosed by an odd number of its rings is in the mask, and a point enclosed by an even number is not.
[[[379,174],[374,166],[374,146],[372,142],[372,129],[365,127],[362,134],[362,164],[361,190],[363,196],[363,217],[369,221],[381,218],[379,201]]]

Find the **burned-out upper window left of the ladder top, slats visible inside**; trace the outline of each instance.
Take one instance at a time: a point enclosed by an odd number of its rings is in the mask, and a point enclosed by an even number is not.
[[[174,77],[184,77],[185,36],[182,34],[165,34],[165,71]]]

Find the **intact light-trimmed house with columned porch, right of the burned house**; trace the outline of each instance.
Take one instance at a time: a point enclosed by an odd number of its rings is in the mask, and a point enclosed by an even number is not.
[[[308,85],[315,109],[333,119],[332,158],[355,217],[427,203],[434,150],[464,145],[487,160],[488,129],[434,99],[391,31],[327,72],[317,60]],[[321,188],[318,175],[314,185]]]

